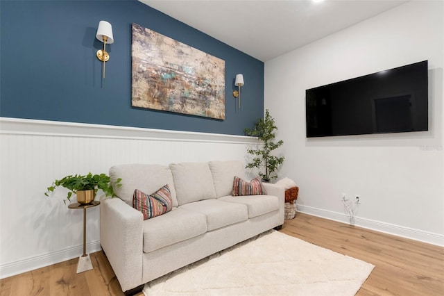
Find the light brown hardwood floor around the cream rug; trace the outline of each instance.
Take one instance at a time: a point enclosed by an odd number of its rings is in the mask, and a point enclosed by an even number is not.
[[[280,231],[375,265],[359,296],[444,295],[443,247],[302,213],[286,220]],[[74,258],[1,279],[0,295],[123,295],[103,252],[90,256],[94,269],[80,274]]]

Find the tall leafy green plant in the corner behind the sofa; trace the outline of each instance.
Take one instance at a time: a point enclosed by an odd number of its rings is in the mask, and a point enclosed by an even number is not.
[[[271,117],[268,109],[265,110],[265,117],[257,120],[253,129],[244,129],[246,135],[253,135],[259,138],[264,145],[258,149],[248,148],[248,154],[255,156],[251,163],[248,163],[246,168],[265,169],[265,172],[259,172],[262,181],[270,181],[278,177],[275,172],[284,163],[284,156],[278,157],[271,154],[271,152],[284,144],[284,141],[279,140],[275,142],[275,131],[278,127],[275,125],[273,117]]]

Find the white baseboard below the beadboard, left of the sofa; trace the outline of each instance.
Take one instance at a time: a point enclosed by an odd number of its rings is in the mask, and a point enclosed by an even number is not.
[[[94,253],[101,251],[102,247],[100,241],[87,242],[87,253]],[[25,258],[12,263],[3,264],[0,266],[0,279],[12,277],[16,274],[21,274],[37,268],[44,268],[45,266],[53,265],[59,262],[67,261],[72,258],[77,258],[83,254],[83,245],[78,245],[68,249],[63,249],[50,254],[43,254],[31,258]]]

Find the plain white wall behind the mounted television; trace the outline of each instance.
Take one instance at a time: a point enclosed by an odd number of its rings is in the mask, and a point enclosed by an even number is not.
[[[410,1],[265,63],[265,108],[284,140],[280,176],[302,212],[444,245],[443,1]],[[305,137],[305,90],[429,60],[429,131]],[[350,122],[350,124],[353,124]]]

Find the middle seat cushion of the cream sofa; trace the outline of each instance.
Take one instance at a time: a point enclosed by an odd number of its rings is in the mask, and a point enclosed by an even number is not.
[[[248,208],[245,204],[234,204],[217,199],[191,202],[179,208],[204,214],[207,217],[207,231],[248,220]]]

